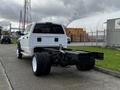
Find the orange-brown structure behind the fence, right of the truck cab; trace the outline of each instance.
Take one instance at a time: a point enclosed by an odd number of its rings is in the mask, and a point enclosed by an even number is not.
[[[83,28],[66,28],[66,34],[72,42],[87,42],[89,36]]]

